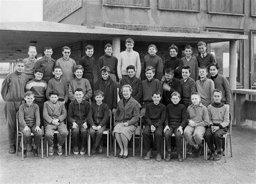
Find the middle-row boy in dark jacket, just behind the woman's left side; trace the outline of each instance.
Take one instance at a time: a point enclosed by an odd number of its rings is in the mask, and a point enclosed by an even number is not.
[[[102,77],[95,82],[93,91],[103,91],[103,102],[106,103],[109,106],[109,109],[114,113],[117,109],[117,84],[110,77],[109,67],[103,66],[100,71]],[[95,101],[96,98],[93,99],[93,102]]]

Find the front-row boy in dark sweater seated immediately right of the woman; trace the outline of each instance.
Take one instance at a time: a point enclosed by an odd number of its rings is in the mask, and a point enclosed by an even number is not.
[[[151,148],[151,133],[154,133],[157,145],[156,161],[161,161],[161,149],[163,143],[163,123],[166,114],[166,107],[160,103],[161,94],[155,91],[152,94],[152,103],[146,105],[145,111],[145,128],[143,129],[143,141],[147,151],[144,160],[149,160],[153,157]]]

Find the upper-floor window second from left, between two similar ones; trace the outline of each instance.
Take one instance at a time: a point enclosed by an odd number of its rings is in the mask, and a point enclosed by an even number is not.
[[[158,9],[200,12],[199,0],[158,0]]]

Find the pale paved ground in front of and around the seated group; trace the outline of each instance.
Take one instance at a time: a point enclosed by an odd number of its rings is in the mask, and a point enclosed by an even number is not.
[[[2,80],[0,79],[0,85]],[[1,183],[255,183],[256,129],[233,128],[233,158],[228,149],[227,162],[187,158],[183,162],[144,161],[136,155],[118,159],[103,154],[58,156],[41,159],[28,153],[8,153],[4,102],[0,98],[0,182]],[[228,145],[228,147],[230,147]],[[46,156],[44,154],[44,156]]]

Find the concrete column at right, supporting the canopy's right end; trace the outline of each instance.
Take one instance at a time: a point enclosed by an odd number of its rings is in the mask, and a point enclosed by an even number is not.
[[[237,41],[230,41],[230,87],[237,89]],[[242,67],[242,66],[241,66]]]

